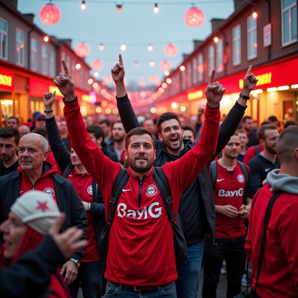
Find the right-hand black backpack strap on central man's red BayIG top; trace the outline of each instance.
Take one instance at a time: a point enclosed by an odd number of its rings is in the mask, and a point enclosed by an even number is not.
[[[173,199],[172,199],[171,193],[170,193],[169,182],[168,182],[167,177],[164,174],[164,171],[162,170],[161,167],[154,167],[153,179],[154,179],[155,183],[157,184],[157,187],[162,195],[162,198],[164,200],[164,205],[166,207],[170,221],[171,221],[172,225],[174,225],[175,224],[175,213],[173,212],[173,208],[172,208],[172,204],[171,204],[173,202]]]

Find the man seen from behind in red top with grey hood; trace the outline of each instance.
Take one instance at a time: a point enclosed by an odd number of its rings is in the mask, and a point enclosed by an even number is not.
[[[252,262],[252,297],[298,297],[298,128],[285,129],[279,136],[276,152],[280,170],[268,173],[263,188],[252,202],[246,252]],[[272,195],[284,191],[275,201],[267,226],[264,254],[257,288],[258,260],[264,218]],[[256,290],[256,291],[255,291]]]

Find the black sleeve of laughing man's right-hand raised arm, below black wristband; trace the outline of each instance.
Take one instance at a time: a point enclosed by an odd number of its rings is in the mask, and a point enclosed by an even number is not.
[[[217,139],[217,146],[215,150],[215,154],[212,159],[209,161],[212,162],[216,156],[224,149],[226,144],[229,142],[231,136],[235,133],[238,128],[239,123],[244,115],[247,106],[243,107],[237,101],[229,113],[226,115],[226,118],[221,123],[219,127],[219,134]]]

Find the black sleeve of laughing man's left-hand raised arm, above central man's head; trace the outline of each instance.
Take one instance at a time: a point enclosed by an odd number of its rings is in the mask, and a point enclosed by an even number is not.
[[[124,126],[125,132],[128,133],[135,127],[142,127],[138,119],[136,119],[136,115],[134,114],[134,110],[127,94],[123,97],[116,98],[119,116]]]

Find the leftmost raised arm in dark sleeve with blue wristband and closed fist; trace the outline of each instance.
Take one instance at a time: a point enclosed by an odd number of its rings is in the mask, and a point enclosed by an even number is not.
[[[44,105],[46,107],[46,111],[53,110],[52,106],[55,100],[55,93],[56,91],[54,91],[54,93],[49,92],[44,94]],[[72,162],[70,160],[70,153],[61,139],[53,112],[46,113],[46,132],[48,134],[49,144],[56,162],[60,167],[61,173],[63,174],[66,168],[72,164]]]

